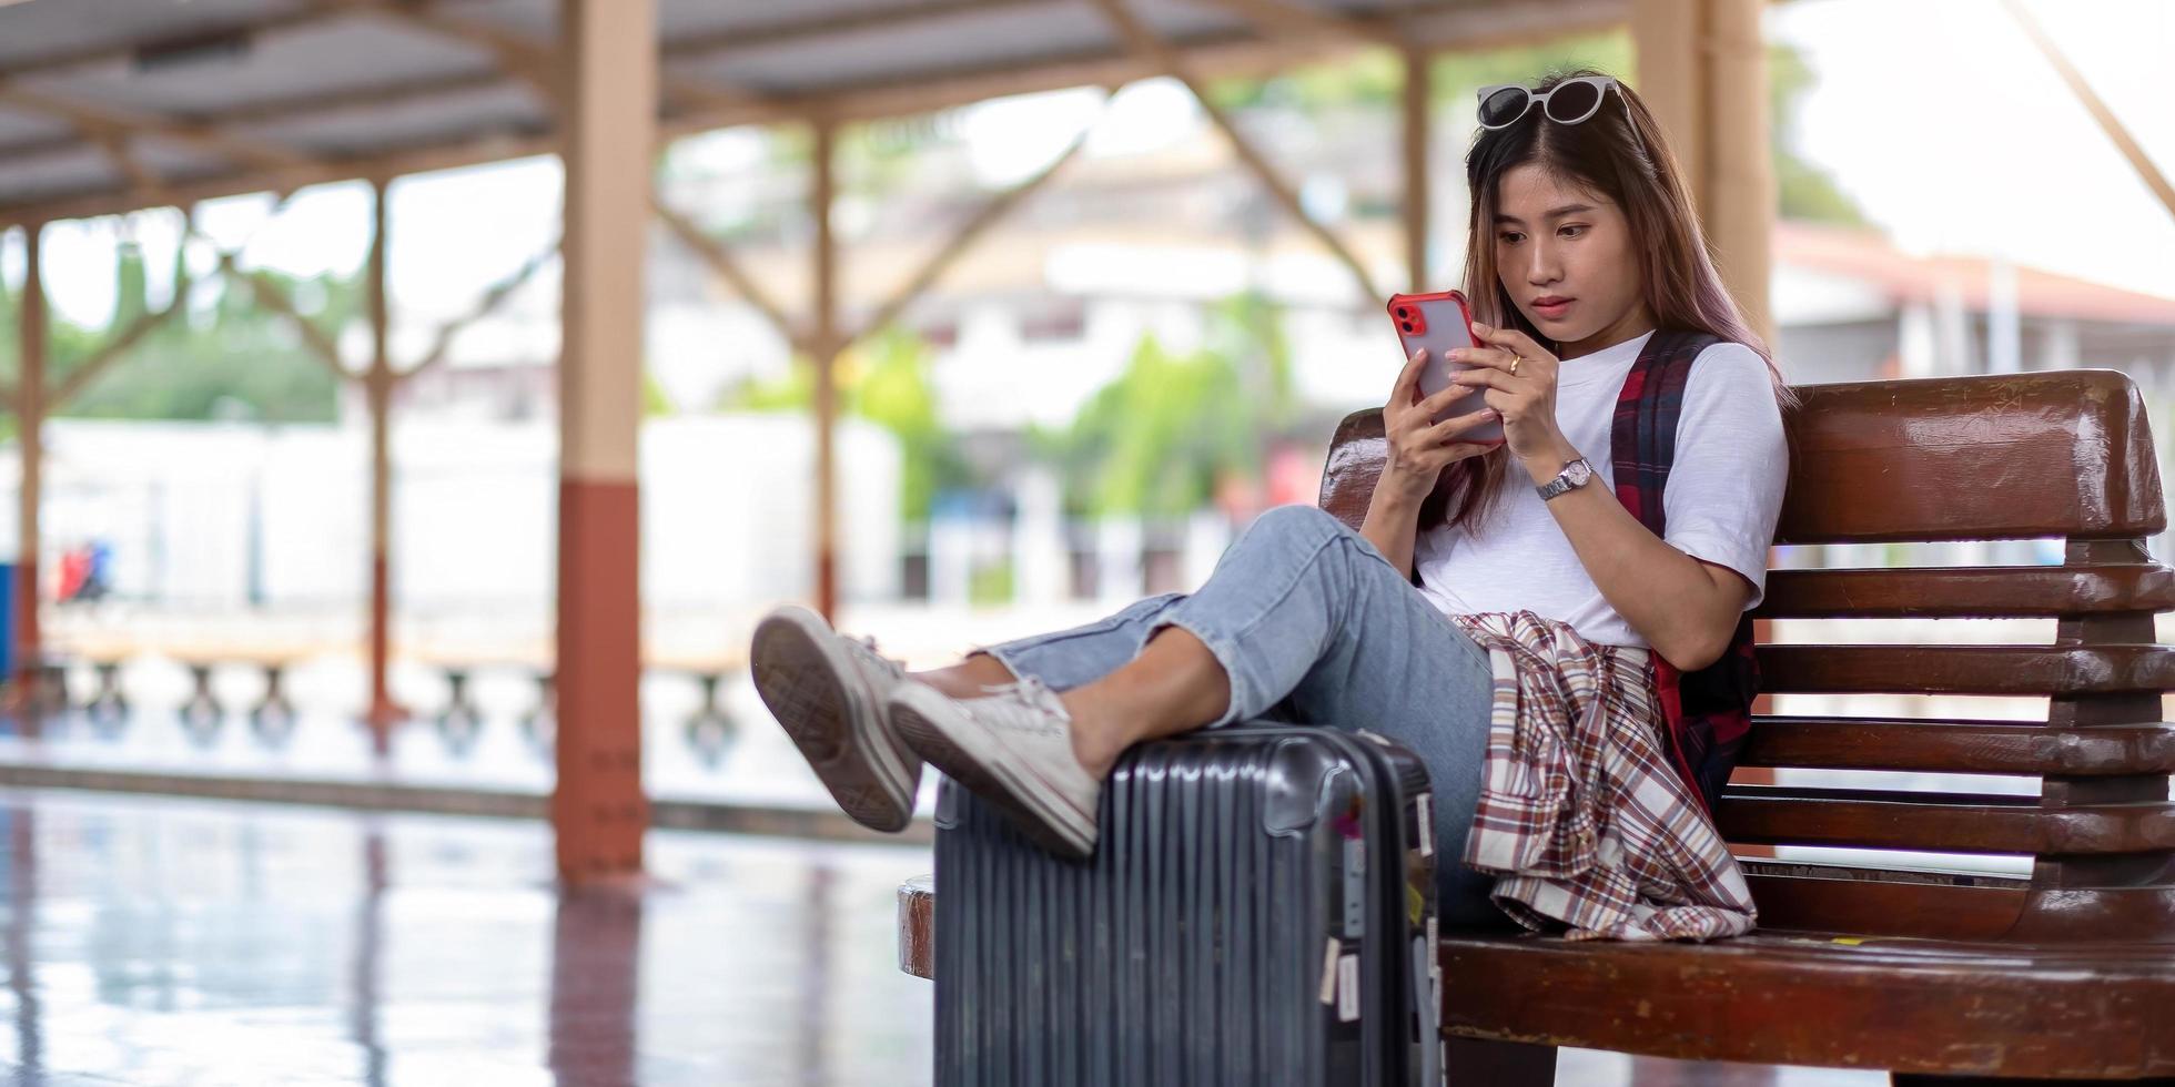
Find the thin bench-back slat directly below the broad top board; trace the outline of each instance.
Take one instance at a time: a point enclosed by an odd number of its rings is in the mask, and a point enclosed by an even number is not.
[[[1773,570],[1753,617],[1992,620],[2121,611],[2175,611],[2175,570],[2160,563]]]

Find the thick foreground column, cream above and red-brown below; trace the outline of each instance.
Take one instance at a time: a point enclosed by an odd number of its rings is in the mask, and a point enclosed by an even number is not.
[[[657,0],[561,0],[566,274],[559,357],[559,783],[568,885],[639,876],[642,265]]]

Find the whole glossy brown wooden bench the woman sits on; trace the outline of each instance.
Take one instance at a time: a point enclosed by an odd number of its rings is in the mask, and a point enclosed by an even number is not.
[[[2175,648],[2153,637],[2153,615],[2175,611],[2175,572],[2145,548],[2166,515],[2142,398],[2110,370],[1799,393],[1779,544],[2064,537],[2066,559],[1770,572],[1760,617],[2040,617],[2055,639],[1770,644],[1764,689],[2044,696],[2047,717],[1755,717],[1751,772],[1718,822],[1747,846],[1762,928],[1703,946],[1446,935],[1451,1067],[1459,1083],[1540,1085],[1557,1046],[1581,1046],[1890,1070],[1914,1085],[2175,1083],[2175,724],[2162,713]],[[1381,459],[1379,413],[1346,417],[1322,507],[1357,526]],[[1764,785],[1777,776],[1764,767],[1994,774],[2021,789]],[[1775,859],[1803,846],[1864,852]],[[2014,872],[1927,852],[2008,857]],[[933,902],[927,880],[900,887],[900,961],[922,976]]]

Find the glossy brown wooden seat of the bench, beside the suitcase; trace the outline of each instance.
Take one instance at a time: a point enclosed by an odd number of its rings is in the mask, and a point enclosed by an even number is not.
[[[1457,1037],[1977,1076],[2175,1074],[2175,946],[1444,935]]]

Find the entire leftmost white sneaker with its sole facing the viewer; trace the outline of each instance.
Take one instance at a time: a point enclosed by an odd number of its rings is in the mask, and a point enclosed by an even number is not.
[[[905,665],[879,657],[874,639],[844,637],[803,607],[763,615],[748,661],[755,691],[837,807],[872,830],[905,828],[922,761],[883,709],[894,687],[920,687]]]

